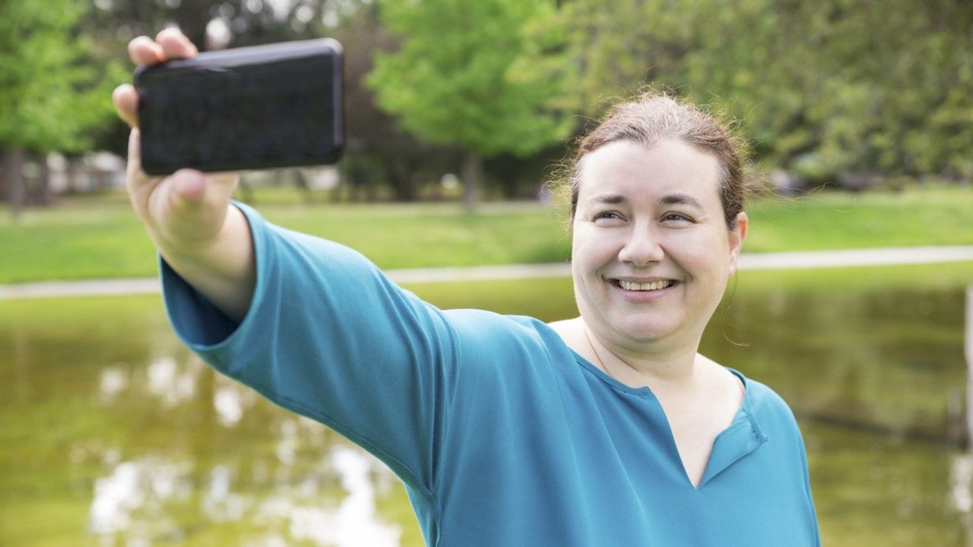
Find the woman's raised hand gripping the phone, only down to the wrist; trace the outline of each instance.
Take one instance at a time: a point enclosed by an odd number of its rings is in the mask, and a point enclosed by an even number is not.
[[[193,57],[198,50],[179,30],[166,28],[155,41],[139,36],[129,42],[128,55],[135,64],[153,65]],[[195,169],[180,169],[166,177],[146,174],[139,152],[138,94],[130,84],[123,84],[112,93],[112,99],[119,116],[132,128],[126,186],[149,236],[163,255],[208,251],[226,223],[238,174]]]

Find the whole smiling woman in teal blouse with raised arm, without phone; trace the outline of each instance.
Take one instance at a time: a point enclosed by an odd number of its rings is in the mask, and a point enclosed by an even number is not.
[[[136,63],[190,56],[177,31]],[[130,86],[114,96],[137,126]],[[231,203],[232,174],[132,204],[166,309],[212,366],[369,450],[429,545],[819,544],[804,443],[768,387],[697,353],[747,219],[732,139],[667,97],[616,108],[571,178],[581,316],[437,310],[356,252]]]

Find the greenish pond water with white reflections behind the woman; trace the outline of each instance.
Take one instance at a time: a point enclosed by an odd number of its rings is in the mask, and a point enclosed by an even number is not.
[[[743,272],[703,352],[794,409],[829,546],[966,545],[973,264]],[[546,320],[570,280],[416,284]],[[733,341],[734,343],[731,343]],[[157,296],[0,301],[0,545],[422,545],[372,456],[212,373]]]

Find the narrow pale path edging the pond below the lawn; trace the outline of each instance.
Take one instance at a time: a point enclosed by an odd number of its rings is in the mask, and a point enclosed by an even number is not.
[[[973,245],[939,247],[886,247],[834,251],[794,251],[782,253],[744,253],[740,270],[792,270],[807,268],[847,268],[855,266],[894,266],[973,261]],[[414,268],[385,270],[397,283],[482,281],[525,279],[530,277],[567,277],[568,264],[518,264],[473,266],[466,268]],[[973,280],[973,279],[971,279]],[[82,281],[44,281],[0,285],[0,300],[62,296],[112,296],[160,292],[159,279],[123,278]]]

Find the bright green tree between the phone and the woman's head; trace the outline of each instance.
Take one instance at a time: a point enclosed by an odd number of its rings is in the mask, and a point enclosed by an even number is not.
[[[467,208],[476,204],[484,157],[526,156],[570,131],[556,102],[561,82],[528,39],[540,34],[557,48],[557,32],[532,26],[552,17],[552,2],[388,0],[380,8],[402,42],[394,54],[376,54],[367,84],[403,128],[462,149]]]

